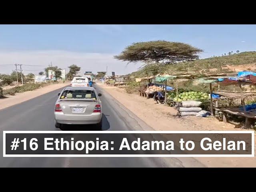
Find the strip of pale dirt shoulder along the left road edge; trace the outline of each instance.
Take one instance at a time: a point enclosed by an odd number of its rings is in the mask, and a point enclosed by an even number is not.
[[[15,104],[30,100],[32,98],[38,97],[42,94],[54,91],[56,89],[65,87],[69,84],[70,82],[65,82],[65,83],[60,82],[58,84],[51,84],[51,85],[48,85],[39,89],[35,89],[32,91],[16,93],[15,95],[5,96],[4,98],[0,98],[0,110]]]

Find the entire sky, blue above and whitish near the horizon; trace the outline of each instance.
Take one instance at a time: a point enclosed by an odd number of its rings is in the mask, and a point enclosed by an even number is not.
[[[0,25],[0,65],[32,64],[43,70],[49,62],[62,68],[77,64],[82,71],[116,74],[135,71],[139,64],[117,61],[114,55],[133,42],[167,40],[204,50],[200,58],[229,51],[256,50],[256,25]],[[0,73],[13,67],[1,67]]]

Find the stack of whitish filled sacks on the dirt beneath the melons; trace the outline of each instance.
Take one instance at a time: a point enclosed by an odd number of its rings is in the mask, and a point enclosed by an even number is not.
[[[178,109],[178,116],[208,116],[209,112],[202,110],[200,108],[202,102],[200,101],[182,101],[182,106],[180,106]]]

